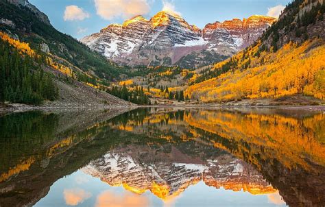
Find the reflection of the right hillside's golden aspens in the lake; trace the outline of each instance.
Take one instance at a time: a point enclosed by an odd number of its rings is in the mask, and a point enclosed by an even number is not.
[[[277,114],[201,111],[184,119],[191,126],[237,141],[239,145],[241,141],[248,143],[249,147],[241,145],[239,149],[232,150],[212,141],[216,147],[228,149],[234,154],[260,154],[278,160],[289,169],[297,165],[311,169],[310,161],[325,166],[325,146],[321,143],[325,135],[322,127],[325,125],[324,114],[300,120]],[[259,166],[256,158],[249,159]]]

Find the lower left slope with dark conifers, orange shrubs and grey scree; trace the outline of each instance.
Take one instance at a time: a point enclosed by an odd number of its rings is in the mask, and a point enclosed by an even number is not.
[[[47,106],[130,105],[106,92],[108,86],[73,65],[35,51],[0,32],[0,101]],[[56,101],[57,100],[57,101]],[[48,102],[55,101],[56,103]]]

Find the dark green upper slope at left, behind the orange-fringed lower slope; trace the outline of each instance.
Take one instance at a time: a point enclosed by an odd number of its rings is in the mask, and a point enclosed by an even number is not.
[[[106,80],[119,78],[119,74],[128,70],[108,62],[103,56],[91,51],[86,45],[75,38],[58,32],[53,26],[43,22],[34,12],[23,5],[14,5],[8,1],[0,1],[1,19],[8,24],[0,24],[0,30],[10,31],[19,36],[23,42],[28,42],[32,49],[38,49],[45,43],[49,52],[67,60],[85,72],[94,72],[95,75]]]

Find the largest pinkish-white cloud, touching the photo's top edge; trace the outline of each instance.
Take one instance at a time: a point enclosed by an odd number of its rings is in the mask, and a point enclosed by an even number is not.
[[[147,14],[150,10],[147,0],[94,0],[97,14],[106,20],[117,17],[129,19]]]

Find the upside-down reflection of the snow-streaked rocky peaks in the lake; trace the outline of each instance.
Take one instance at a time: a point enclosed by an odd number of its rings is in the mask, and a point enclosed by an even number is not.
[[[199,155],[189,156],[178,147],[170,150],[129,145],[109,151],[82,171],[111,186],[123,185],[134,193],[151,191],[160,199],[176,197],[191,184],[201,181],[215,188],[252,194],[276,192],[250,165],[230,154],[201,160]],[[203,155],[204,151],[196,153]]]

